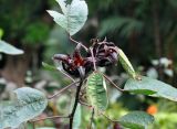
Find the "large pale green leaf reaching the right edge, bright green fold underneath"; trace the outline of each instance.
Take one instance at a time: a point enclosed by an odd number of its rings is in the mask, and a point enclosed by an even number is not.
[[[169,100],[177,101],[177,89],[168,84],[153,79],[149,77],[142,77],[142,80],[128,79],[124,87],[125,90],[131,93],[138,93],[144,95],[149,95],[154,97],[163,97]],[[146,94],[152,93],[152,94]]]

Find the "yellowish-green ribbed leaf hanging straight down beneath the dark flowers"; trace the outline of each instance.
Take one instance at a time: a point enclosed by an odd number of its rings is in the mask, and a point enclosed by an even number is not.
[[[107,108],[106,83],[101,73],[94,72],[87,77],[86,96],[96,110],[104,111]]]

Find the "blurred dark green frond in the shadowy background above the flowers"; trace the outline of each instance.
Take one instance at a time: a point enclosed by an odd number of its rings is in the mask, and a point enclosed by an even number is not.
[[[104,36],[107,33],[115,34],[118,32],[118,36],[129,37],[133,33],[140,33],[144,24],[142,21],[134,18],[113,15],[102,20],[100,26],[100,36]]]

